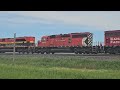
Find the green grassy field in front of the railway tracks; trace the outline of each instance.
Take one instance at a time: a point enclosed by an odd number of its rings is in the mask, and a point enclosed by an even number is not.
[[[0,79],[120,79],[120,57],[0,55]]]

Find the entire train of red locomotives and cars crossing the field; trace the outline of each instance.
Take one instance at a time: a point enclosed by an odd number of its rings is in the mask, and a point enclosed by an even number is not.
[[[14,38],[0,39],[0,53],[13,52]],[[104,32],[104,45],[93,45],[93,34],[90,32],[68,33],[42,36],[35,43],[35,37],[16,37],[15,51],[18,53],[75,53],[75,54],[98,54],[120,53],[120,30]]]

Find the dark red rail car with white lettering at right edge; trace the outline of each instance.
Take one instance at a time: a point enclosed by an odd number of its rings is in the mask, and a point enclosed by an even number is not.
[[[120,30],[105,31],[105,53],[120,53]]]

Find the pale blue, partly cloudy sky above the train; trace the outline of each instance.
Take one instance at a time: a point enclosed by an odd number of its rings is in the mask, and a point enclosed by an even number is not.
[[[120,30],[120,11],[0,11],[0,38],[91,32],[104,42],[108,30]]]

